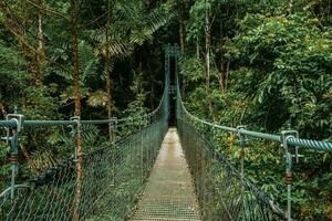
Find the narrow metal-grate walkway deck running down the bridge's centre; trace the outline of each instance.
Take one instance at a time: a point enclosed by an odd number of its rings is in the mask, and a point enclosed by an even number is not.
[[[165,136],[135,220],[200,220],[191,176],[175,128]]]

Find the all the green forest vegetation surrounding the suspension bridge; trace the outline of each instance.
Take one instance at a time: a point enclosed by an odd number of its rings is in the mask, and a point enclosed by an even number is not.
[[[164,45],[177,42],[190,113],[232,127],[274,134],[292,128],[303,138],[331,141],[331,0],[2,0],[0,118],[15,107],[27,119],[148,113],[163,92]],[[117,136],[133,129],[121,125]],[[111,126],[86,128],[83,152],[111,134]],[[236,136],[206,136],[239,166]],[[65,127],[24,130],[19,181],[70,157],[72,144]],[[301,154],[294,166],[297,217],[331,220],[332,155]],[[0,191],[10,180],[9,155],[1,141]],[[282,148],[250,140],[245,165],[246,177],[284,206]]]

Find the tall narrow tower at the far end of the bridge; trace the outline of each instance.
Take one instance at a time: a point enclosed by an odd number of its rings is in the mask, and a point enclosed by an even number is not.
[[[179,48],[177,44],[168,44],[165,48],[165,78],[166,84],[168,84],[168,95],[169,95],[169,120],[168,126],[176,126],[176,76],[178,72],[177,61],[178,61]],[[167,85],[166,85],[167,86]]]

